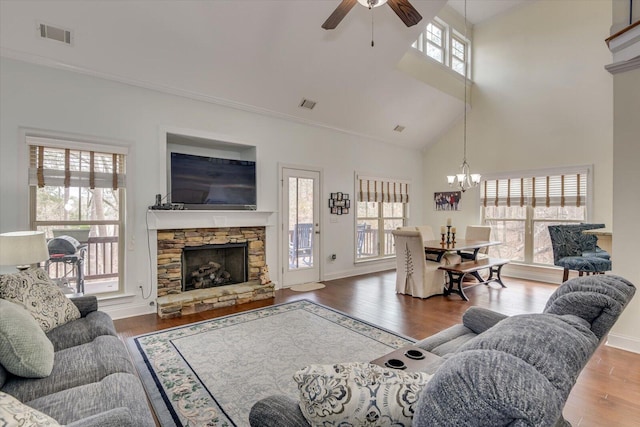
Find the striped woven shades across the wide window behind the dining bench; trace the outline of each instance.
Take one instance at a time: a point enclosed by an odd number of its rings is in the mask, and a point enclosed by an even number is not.
[[[584,206],[588,169],[557,175],[482,181],[482,206]]]

